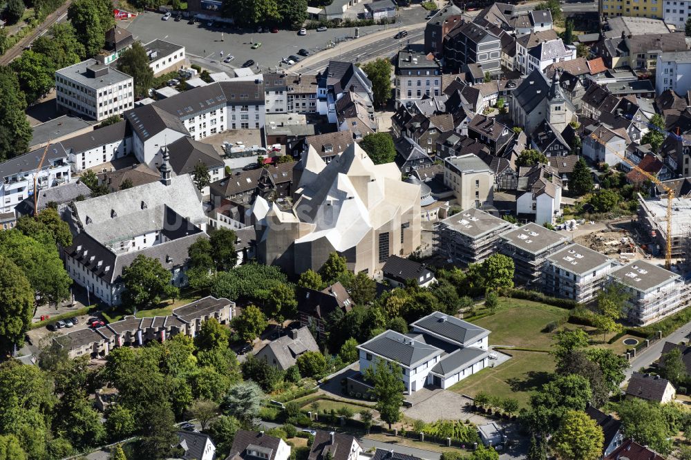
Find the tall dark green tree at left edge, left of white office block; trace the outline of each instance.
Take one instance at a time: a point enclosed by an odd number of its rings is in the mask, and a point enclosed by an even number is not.
[[[32,128],[26,118],[26,98],[19,89],[17,74],[0,67],[0,162],[28,151]]]

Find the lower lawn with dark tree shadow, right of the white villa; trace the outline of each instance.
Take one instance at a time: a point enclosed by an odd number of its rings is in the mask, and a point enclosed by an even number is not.
[[[554,372],[551,354],[509,351],[513,358],[493,368],[487,367],[464,378],[451,391],[475,396],[485,392],[499,398],[518,399],[522,407],[528,405],[530,394],[538,390]]]

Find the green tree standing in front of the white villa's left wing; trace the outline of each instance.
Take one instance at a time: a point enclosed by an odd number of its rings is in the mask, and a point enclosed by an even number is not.
[[[375,365],[367,368],[365,377],[374,383],[374,394],[377,397],[375,409],[391,429],[391,424],[401,419],[403,392],[406,390],[401,379],[401,367],[396,363],[377,359]]]

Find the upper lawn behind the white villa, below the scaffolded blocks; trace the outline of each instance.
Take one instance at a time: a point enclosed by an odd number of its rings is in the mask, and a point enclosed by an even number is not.
[[[549,350],[553,333],[542,332],[543,329],[549,323],[565,318],[568,314],[567,310],[551,305],[502,298],[495,314],[473,323],[491,331],[491,345]]]

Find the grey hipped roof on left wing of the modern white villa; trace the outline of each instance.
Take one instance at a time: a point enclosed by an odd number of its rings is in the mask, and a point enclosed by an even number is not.
[[[358,348],[390,361],[396,361],[406,367],[413,367],[420,361],[428,361],[433,356],[442,354],[442,350],[433,345],[427,345],[391,330],[382,332],[359,345]]]

